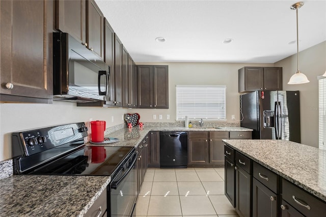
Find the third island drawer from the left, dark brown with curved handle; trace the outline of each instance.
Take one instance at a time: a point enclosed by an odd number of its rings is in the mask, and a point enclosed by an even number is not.
[[[263,183],[266,187],[271,189],[274,193],[278,194],[278,183],[279,183],[279,176],[268,170],[267,168],[261,166],[254,162],[253,164],[253,175],[254,177]]]

